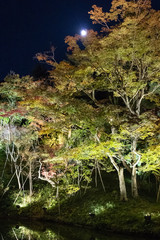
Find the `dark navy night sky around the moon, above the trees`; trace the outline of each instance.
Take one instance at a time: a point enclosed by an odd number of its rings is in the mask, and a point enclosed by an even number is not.
[[[65,58],[67,35],[95,29],[88,15],[93,4],[109,9],[110,0],[0,0],[0,80],[10,71],[31,74],[36,53],[53,45],[55,58]],[[160,0],[152,0],[160,9]]]

